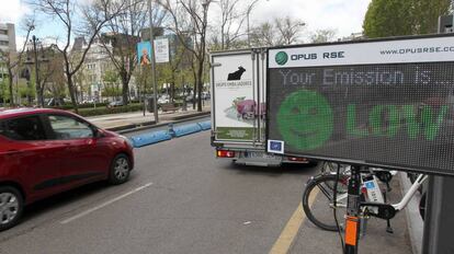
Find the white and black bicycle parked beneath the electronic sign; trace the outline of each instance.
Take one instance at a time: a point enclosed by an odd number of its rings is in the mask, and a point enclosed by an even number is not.
[[[306,189],[303,193],[303,209],[306,212],[307,218],[317,227],[328,231],[339,231],[342,229],[342,223],[337,222],[337,218],[343,218],[347,215],[347,201],[348,201],[348,183],[349,183],[349,170],[345,170],[343,174],[339,175],[337,183],[337,201],[333,203],[333,192],[336,181],[338,176],[332,173],[320,174],[311,177]],[[386,193],[390,190],[389,182],[393,178],[393,174],[389,171],[374,169],[361,172],[361,213],[360,218],[364,223],[370,217],[376,217],[387,220],[387,231],[393,232],[389,220],[393,219],[397,212],[402,210],[411,197],[418,190],[418,188],[427,181],[428,176],[420,174],[410,189],[405,194],[402,199],[397,204],[386,203]],[[378,181],[386,183],[387,189],[382,193]],[[317,198],[318,193],[321,193],[321,198]],[[310,206],[310,203],[316,200],[317,206]],[[331,209],[326,209],[327,207]],[[321,208],[321,209],[320,209]],[[332,210],[334,209],[334,210]],[[336,213],[337,218],[333,216]],[[340,227],[340,228],[339,228]]]

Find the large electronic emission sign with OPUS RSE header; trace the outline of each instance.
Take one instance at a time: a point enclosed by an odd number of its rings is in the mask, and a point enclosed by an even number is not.
[[[268,139],[284,154],[454,175],[453,36],[280,47],[268,59]]]

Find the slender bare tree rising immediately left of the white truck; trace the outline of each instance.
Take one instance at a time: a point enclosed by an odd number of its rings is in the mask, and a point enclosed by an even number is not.
[[[197,93],[197,111],[202,111],[202,89],[204,67],[206,64],[206,32],[208,27],[208,8],[213,0],[161,0],[159,3],[172,18],[171,30],[179,36],[180,42],[194,56],[194,78]],[[188,43],[185,35],[193,36],[193,45]]]

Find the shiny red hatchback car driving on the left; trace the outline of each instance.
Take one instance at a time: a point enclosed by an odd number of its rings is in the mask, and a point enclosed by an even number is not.
[[[97,181],[122,184],[133,168],[127,138],[78,115],[0,111],[0,231],[18,223],[24,205]]]

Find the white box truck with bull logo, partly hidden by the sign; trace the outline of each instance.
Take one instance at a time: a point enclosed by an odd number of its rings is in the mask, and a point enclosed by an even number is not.
[[[259,166],[309,163],[306,158],[265,152],[266,49],[216,51],[209,60],[216,157]]]

